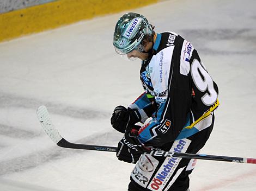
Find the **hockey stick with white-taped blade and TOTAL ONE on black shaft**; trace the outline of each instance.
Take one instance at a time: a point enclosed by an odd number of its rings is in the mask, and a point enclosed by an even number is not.
[[[59,147],[71,148],[71,149],[84,149],[84,150],[99,150],[116,152],[116,147],[100,146],[100,145],[89,145],[89,144],[76,144],[70,143],[64,139],[58,130],[53,125],[49,113],[45,106],[38,107],[36,111],[39,122],[41,123],[42,129],[47,135],[56,143]],[[152,156],[162,157],[180,157],[180,158],[195,158],[200,160],[211,160],[211,161],[225,161],[225,162],[236,162],[236,163],[251,163],[256,164],[256,158],[242,158],[242,157],[229,157],[229,156],[216,156],[216,155],[203,155],[203,154],[188,154],[182,152],[168,152],[152,150],[151,152],[145,152],[144,154]]]

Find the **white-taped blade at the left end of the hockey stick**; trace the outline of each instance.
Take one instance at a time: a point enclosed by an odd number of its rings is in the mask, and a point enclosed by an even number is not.
[[[46,106],[39,106],[36,110],[36,114],[38,116],[39,122],[41,123],[42,129],[44,129],[44,131],[52,139],[52,141],[57,144],[62,139],[62,136],[53,125]]]

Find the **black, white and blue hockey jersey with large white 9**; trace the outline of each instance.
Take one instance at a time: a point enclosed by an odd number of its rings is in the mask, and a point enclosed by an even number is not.
[[[157,34],[153,54],[142,61],[144,93],[129,107],[138,109],[142,123],[138,139],[161,147],[186,138],[211,124],[218,106],[218,87],[197,50],[178,34]]]

